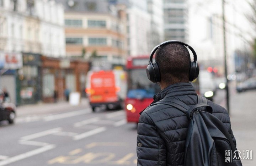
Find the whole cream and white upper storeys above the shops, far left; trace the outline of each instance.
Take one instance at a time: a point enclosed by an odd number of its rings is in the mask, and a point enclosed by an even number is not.
[[[65,56],[64,9],[54,0],[0,0],[0,50]]]

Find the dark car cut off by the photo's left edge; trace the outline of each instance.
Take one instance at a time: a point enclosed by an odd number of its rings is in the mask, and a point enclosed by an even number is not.
[[[10,124],[14,123],[16,117],[16,106],[5,102],[4,97],[0,95],[0,121],[7,120]]]

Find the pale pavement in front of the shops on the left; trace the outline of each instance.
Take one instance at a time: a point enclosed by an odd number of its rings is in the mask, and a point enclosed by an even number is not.
[[[28,115],[42,115],[42,114],[53,114],[57,112],[67,110],[79,110],[90,107],[87,98],[82,98],[79,105],[70,105],[67,101],[59,101],[57,103],[38,103],[30,105],[22,105],[17,107],[17,117],[28,116]]]

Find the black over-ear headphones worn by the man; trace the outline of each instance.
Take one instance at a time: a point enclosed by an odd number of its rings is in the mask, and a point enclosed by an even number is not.
[[[188,80],[193,81],[194,79],[196,79],[198,77],[198,74],[199,74],[199,66],[197,65],[196,52],[190,45],[183,43],[181,41],[177,41],[177,40],[164,41],[163,43],[155,46],[155,48],[151,51],[150,58],[149,58],[149,64],[148,64],[148,67],[146,68],[146,73],[147,73],[148,79],[153,83],[161,81],[160,70],[159,70],[158,64],[156,62],[153,62],[153,56],[154,56],[156,50],[158,50],[161,46],[170,44],[170,43],[182,44],[192,51],[194,60],[190,62],[190,70],[188,73]]]

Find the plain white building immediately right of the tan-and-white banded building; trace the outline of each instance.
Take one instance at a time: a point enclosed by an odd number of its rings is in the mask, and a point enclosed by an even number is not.
[[[118,0],[127,6],[128,56],[149,55],[151,18],[147,0]]]

